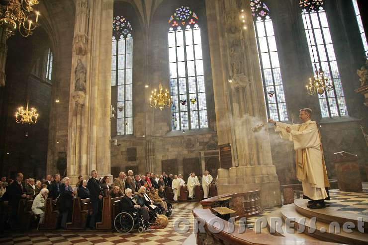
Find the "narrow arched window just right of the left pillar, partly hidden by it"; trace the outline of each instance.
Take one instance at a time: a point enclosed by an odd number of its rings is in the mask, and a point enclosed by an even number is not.
[[[131,32],[132,26],[125,17],[113,18],[111,92],[117,93],[117,135],[133,134],[133,37]]]

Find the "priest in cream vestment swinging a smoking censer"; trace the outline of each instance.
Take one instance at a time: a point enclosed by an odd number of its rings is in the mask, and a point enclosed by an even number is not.
[[[275,131],[282,139],[294,144],[296,152],[296,175],[302,182],[303,195],[309,201],[311,209],[325,208],[324,199],[328,197],[325,187],[328,183],[326,165],[323,158],[321,138],[315,121],[311,121],[312,110],[300,110],[302,124],[286,124],[270,119]]]

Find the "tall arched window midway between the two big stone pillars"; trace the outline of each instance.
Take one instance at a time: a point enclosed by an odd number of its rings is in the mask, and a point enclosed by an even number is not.
[[[170,17],[169,25],[172,130],[208,128],[198,17],[182,6]]]

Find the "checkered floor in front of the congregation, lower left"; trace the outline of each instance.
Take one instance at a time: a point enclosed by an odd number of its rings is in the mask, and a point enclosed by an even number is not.
[[[192,210],[201,208],[199,202],[180,202],[173,204],[173,214],[169,218],[169,225],[165,229],[150,230],[145,233],[138,233],[133,231],[129,234],[123,235],[120,233],[98,233],[98,232],[38,232],[30,231],[26,234],[1,234],[1,245],[179,245],[183,244],[185,240],[193,232],[193,215]],[[174,230],[174,223],[179,219],[189,221],[190,225],[181,225],[180,229],[183,232],[176,232]],[[190,239],[192,241],[192,238]]]

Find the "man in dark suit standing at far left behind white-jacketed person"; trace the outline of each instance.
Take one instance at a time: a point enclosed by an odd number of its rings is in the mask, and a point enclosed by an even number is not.
[[[14,227],[18,220],[18,204],[20,199],[29,198],[29,195],[26,194],[23,174],[21,172],[16,174],[15,181],[9,187],[6,191],[9,191],[9,205],[11,206],[10,224]]]

